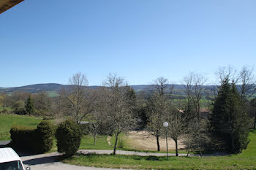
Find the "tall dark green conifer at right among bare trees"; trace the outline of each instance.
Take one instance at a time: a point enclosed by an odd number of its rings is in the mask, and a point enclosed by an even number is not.
[[[234,83],[222,82],[214,102],[211,125],[214,134],[222,139],[227,152],[241,152],[248,144],[249,118]]]

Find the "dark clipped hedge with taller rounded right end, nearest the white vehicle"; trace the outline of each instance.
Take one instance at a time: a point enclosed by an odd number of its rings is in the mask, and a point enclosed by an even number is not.
[[[37,128],[14,125],[10,130],[12,146],[29,152],[47,152],[53,147],[53,128],[47,121],[42,121]]]

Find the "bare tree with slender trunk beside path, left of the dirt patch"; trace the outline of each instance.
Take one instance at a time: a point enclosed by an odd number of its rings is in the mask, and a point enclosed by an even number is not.
[[[110,131],[116,137],[113,155],[116,155],[118,136],[122,131],[134,127],[135,118],[132,114],[132,107],[127,98],[127,84],[121,77],[109,74],[105,80],[105,117],[108,120]]]

